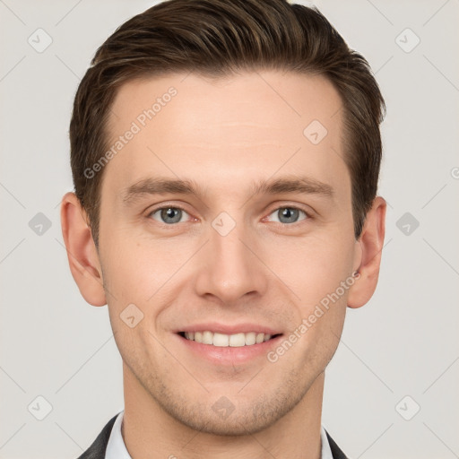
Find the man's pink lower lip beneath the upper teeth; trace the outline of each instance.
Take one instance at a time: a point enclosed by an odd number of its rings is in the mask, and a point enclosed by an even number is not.
[[[280,334],[271,340],[260,342],[259,344],[252,344],[250,346],[219,347],[213,346],[212,344],[203,344],[202,342],[187,340],[179,334],[177,334],[177,336],[178,339],[186,345],[187,349],[194,352],[199,357],[211,361],[213,364],[220,365],[241,365],[255,358],[259,358],[260,356],[265,357],[273,347],[279,344],[282,337]]]

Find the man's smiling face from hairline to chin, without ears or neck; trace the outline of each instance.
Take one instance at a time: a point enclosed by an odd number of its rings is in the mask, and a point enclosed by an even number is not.
[[[131,379],[191,428],[272,425],[333,356],[359,267],[341,105],[323,77],[267,71],[117,93],[123,145],[100,204],[110,321]]]

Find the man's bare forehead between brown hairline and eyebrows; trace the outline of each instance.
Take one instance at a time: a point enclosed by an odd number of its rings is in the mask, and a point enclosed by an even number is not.
[[[104,181],[126,186],[167,175],[221,186],[299,169],[330,181],[346,172],[341,106],[331,82],[306,74],[170,74],[127,82],[108,123],[108,148],[120,148]]]

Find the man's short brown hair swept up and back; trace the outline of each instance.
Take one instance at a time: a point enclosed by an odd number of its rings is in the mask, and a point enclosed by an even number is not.
[[[211,77],[273,69],[319,74],[342,98],[345,162],[359,238],[377,194],[385,101],[366,59],[349,48],[316,7],[287,0],[169,0],[121,25],[97,50],[74,100],[70,123],[74,190],[99,240],[103,170],[117,89],[144,76],[193,72]]]

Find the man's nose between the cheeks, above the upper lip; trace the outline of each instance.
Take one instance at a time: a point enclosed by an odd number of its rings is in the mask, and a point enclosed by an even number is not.
[[[210,240],[200,253],[195,282],[198,295],[220,299],[227,305],[245,296],[264,295],[268,270],[261,249],[241,227],[237,224],[226,236],[210,228]]]

